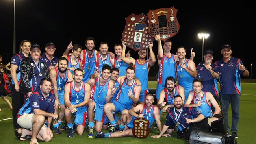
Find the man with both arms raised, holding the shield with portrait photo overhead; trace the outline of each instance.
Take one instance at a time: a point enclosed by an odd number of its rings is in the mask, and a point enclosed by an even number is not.
[[[156,57],[152,50],[153,42],[149,42],[148,45],[149,45],[149,51],[150,51],[150,57],[151,57],[149,61],[145,60],[147,56],[147,50],[139,50],[138,51],[139,59],[137,60],[125,57],[126,46],[123,46],[122,54],[121,54],[122,61],[129,64],[132,63],[135,70],[134,71],[135,77],[139,79],[139,81],[141,82],[141,93],[139,96],[139,103],[144,103],[145,96],[149,92],[148,91],[148,72],[151,66],[153,66],[156,62]]]

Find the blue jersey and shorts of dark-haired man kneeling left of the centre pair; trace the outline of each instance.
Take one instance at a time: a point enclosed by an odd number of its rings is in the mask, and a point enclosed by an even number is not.
[[[91,89],[90,100],[95,102],[95,116],[94,120],[98,120],[103,124],[108,122],[108,118],[103,111],[103,107],[106,104],[106,97],[108,92],[109,79],[105,85],[100,85],[99,79],[95,78],[95,83]]]

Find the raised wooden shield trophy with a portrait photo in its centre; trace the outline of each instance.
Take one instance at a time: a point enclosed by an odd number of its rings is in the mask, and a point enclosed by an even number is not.
[[[148,33],[148,17],[143,14],[131,14],[126,17],[122,40],[135,51],[149,48],[148,44],[153,42],[154,38]]]

